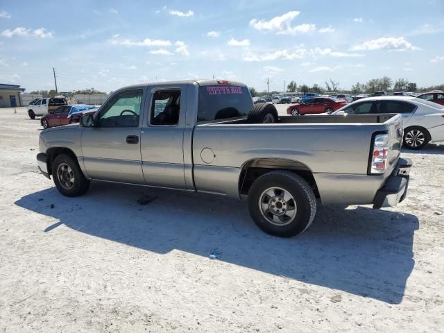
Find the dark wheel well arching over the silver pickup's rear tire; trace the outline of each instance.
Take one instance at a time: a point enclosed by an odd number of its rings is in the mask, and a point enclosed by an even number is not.
[[[309,167],[298,161],[284,159],[256,159],[246,162],[239,177],[239,194],[248,195],[251,185],[257,178],[276,170],[290,171],[304,178],[313,189],[316,198],[319,198],[318,186]]]

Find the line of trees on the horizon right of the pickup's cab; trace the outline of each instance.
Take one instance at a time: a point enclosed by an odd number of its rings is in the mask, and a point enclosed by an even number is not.
[[[384,76],[382,78],[373,78],[368,80],[367,83],[357,82],[352,85],[352,88],[341,89],[339,82],[332,80],[325,81],[325,86],[321,87],[318,84],[312,86],[309,85],[298,85],[296,81],[291,80],[287,85],[287,92],[301,92],[306,94],[307,92],[316,92],[318,94],[323,94],[325,92],[343,92],[346,94],[373,94],[378,91],[384,92],[428,92],[430,90],[444,90],[443,85],[432,85],[430,87],[419,87],[416,83],[409,82],[407,78],[398,78],[398,80],[393,81],[391,78]],[[254,87],[250,87],[251,96],[264,96],[268,94],[275,94],[278,92],[257,92]]]

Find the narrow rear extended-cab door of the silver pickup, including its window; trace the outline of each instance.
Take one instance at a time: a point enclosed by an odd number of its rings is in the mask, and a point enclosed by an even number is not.
[[[192,188],[185,181],[184,131],[187,85],[151,90],[142,125],[142,169],[147,185]],[[191,152],[190,152],[191,153]]]

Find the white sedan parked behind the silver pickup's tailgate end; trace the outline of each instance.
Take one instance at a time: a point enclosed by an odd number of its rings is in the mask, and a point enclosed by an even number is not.
[[[444,142],[444,106],[410,96],[380,96],[361,99],[334,114],[400,113],[404,121],[404,146],[424,148],[429,142]]]

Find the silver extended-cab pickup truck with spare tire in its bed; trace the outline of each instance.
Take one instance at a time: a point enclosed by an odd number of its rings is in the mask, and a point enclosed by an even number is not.
[[[246,85],[187,80],[125,87],[80,123],[43,130],[37,164],[61,194],[91,180],[247,199],[269,234],[306,230],[324,205],[396,205],[411,162],[399,114],[278,116]]]

